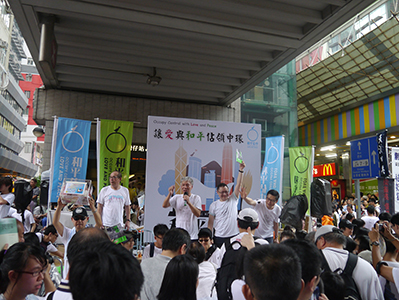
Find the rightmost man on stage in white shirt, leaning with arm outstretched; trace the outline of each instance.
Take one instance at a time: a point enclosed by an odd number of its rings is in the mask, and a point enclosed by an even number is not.
[[[269,244],[277,243],[278,223],[281,207],[277,204],[280,194],[276,190],[269,190],[265,199],[253,200],[248,197],[245,188],[241,189],[241,198],[253,206],[259,215],[257,233]]]

